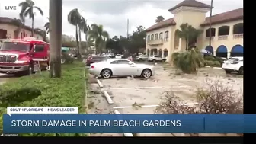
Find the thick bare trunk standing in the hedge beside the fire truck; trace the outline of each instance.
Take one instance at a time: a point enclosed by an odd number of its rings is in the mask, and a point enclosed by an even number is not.
[[[61,76],[62,0],[50,0],[50,78]]]

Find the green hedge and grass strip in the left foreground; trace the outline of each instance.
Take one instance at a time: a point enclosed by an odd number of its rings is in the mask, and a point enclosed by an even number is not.
[[[10,82],[0,85],[1,90],[5,90],[2,94],[8,95],[7,91],[12,91],[11,94],[18,95],[17,98],[29,97],[26,101],[23,98],[18,99],[20,103],[10,106],[16,107],[78,107],[79,113],[85,113],[85,66],[82,62],[75,61],[72,65],[62,65],[61,78],[49,78],[49,72],[42,72],[30,76],[16,78]],[[32,87],[32,88],[31,88]],[[27,90],[30,89],[30,96],[27,96]],[[41,92],[38,95],[38,92]],[[33,96],[32,96],[33,95]],[[16,99],[17,100],[17,99]],[[22,100],[22,101],[21,101]],[[11,97],[9,97],[11,101]],[[0,133],[2,132],[2,114],[6,114],[6,107],[0,107]],[[58,136],[85,136],[85,134],[75,133],[59,133]],[[56,136],[56,133],[23,133],[21,136]]]

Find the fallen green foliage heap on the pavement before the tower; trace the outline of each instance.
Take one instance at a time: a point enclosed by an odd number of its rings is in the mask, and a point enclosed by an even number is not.
[[[203,56],[192,49],[184,53],[173,53],[171,61],[174,66],[184,73],[196,73],[204,65]]]

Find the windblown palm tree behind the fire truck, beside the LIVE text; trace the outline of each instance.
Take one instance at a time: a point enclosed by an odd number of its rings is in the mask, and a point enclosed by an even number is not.
[[[27,16],[29,16],[29,18],[32,19],[31,35],[32,37],[34,37],[34,9],[37,9],[37,11],[39,11],[41,15],[43,15],[43,11],[39,7],[35,6],[34,2],[31,0],[26,0],[25,2],[21,2],[19,6],[21,6],[20,16],[22,18],[26,18]]]

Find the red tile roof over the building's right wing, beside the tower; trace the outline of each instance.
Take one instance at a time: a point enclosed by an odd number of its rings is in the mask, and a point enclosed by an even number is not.
[[[212,16],[212,24],[221,24],[229,21],[242,20],[244,18],[244,8],[238,8],[232,11],[223,12]],[[206,21],[201,26],[210,24],[210,18],[207,17]]]

